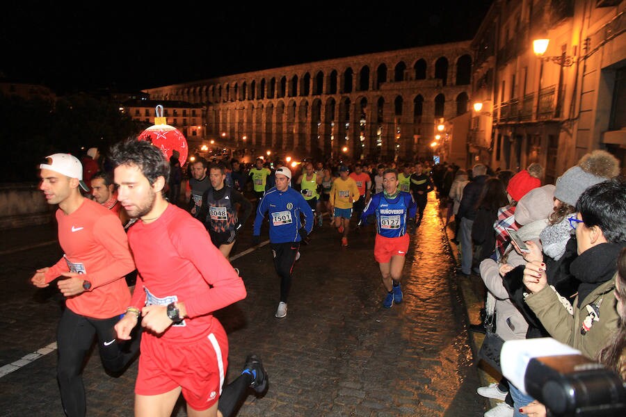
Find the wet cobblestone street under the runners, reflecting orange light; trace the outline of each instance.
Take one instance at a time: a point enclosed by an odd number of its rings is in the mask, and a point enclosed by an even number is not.
[[[279,279],[268,245],[232,261],[248,297],[216,313],[230,342],[227,377],[234,379],[254,352],[270,378],[266,396],[250,396],[238,416],[483,414],[488,405],[476,395],[481,383],[467,310],[434,193],[424,215],[411,237],[404,301],[392,309],[382,307],[373,225],[351,231],[347,248],[328,218],[314,229],[310,245],[300,249],[284,319],[274,317]],[[251,245],[249,223],[234,254]],[[61,297],[27,281],[60,255],[57,245],[0,255],[8,294],[0,306],[0,367],[54,342]],[[53,352],[0,377],[0,416],[62,416],[55,367]],[[114,379],[92,354],[84,373],[88,416],[132,416],[136,367]],[[174,415],[186,415],[182,400]]]

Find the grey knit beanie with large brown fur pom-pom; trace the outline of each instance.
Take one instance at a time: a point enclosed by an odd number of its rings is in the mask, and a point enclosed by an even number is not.
[[[576,202],[584,190],[597,183],[616,177],[620,172],[620,162],[607,151],[596,149],[586,154],[577,165],[565,171],[556,179],[554,197],[570,206]]]

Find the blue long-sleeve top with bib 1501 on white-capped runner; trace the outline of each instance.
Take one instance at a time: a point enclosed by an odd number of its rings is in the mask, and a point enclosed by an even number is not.
[[[261,224],[266,213],[269,213],[270,222],[270,242],[287,243],[299,242],[300,227],[305,227],[307,233],[313,229],[313,211],[306,202],[302,194],[289,187],[284,192],[275,187],[266,191],[265,195],[257,207],[257,217],[255,218],[255,229],[253,234],[261,234]],[[302,224],[300,214],[305,216]]]

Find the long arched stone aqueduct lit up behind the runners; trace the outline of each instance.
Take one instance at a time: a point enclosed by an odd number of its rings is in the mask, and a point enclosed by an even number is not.
[[[205,106],[207,143],[259,155],[272,149],[296,157],[410,161],[445,148],[433,144],[435,126],[469,110],[471,74],[470,41],[464,41],[144,91],[152,100]]]

